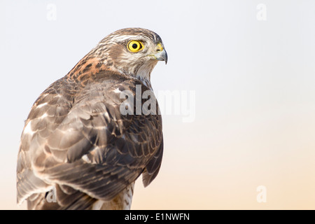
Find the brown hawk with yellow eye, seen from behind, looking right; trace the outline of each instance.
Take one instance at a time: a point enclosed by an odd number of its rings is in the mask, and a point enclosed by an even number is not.
[[[162,161],[158,104],[149,109],[156,113],[139,113],[146,103],[141,94],[152,91],[151,71],[158,61],[167,63],[158,34],[120,29],[36,99],[20,141],[18,204],[27,200],[28,209],[130,209],[134,182],[142,174],[148,186]],[[129,95],[122,97],[123,92]],[[129,108],[132,114],[121,113],[129,97],[138,103]],[[48,200],[52,191],[55,200]]]

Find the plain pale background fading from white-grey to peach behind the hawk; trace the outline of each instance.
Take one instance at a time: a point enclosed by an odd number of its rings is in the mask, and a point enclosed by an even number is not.
[[[196,96],[192,123],[163,116],[162,168],[148,188],[137,181],[132,209],[315,209],[314,0],[1,0],[0,209],[26,208],[15,204],[15,167],[35,99],[124,27],[165,43],[155,91]]]

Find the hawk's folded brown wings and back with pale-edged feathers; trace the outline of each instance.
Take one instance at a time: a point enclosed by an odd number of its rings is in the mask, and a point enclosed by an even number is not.
[[[114,90],[135,94],[141,82],[109,72],[97,75],[97,82],[86,81],[77,91],[75,82],[58,80],[35,102],[25,125],[28,132],[21,137],[18,201],[52,185],[89,195],[77,202],[112,200],[142,172],[145,186],[155,178],[162,160],[161,116],[123,116],[125,99]],[[70,201],[60,203],[82,207]]]

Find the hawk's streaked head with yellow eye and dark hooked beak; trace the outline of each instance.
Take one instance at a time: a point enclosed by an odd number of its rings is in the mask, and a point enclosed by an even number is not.
[[[109,34],[93,53],[102,58],[107,67],[145,80],[150,80],[158,61],[167,63],[167,52],[160,36],[141,28],[120,29]]]

